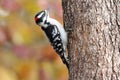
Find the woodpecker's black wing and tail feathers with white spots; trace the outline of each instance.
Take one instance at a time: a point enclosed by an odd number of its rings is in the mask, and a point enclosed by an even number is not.
[[[68,61],[66,61],[66,49],[64,49],[64,45],[61,40],[61,34],[58,30],[58,28],[55,25],[49,25],[49,27],[44,28],[46,36],[48,37],[49,41],[51,42],[51,45],[53,46],[54,50],[57,52],[58,55],[60,55],[62,61],[64,64],[68,66]]]

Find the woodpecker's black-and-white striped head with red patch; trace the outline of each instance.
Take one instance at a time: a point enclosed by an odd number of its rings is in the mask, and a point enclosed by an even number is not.
[[[39,26],[44,26],[45,21],[49,18],[49,13],[47,10],[41,11],[35,15],[35,22]]]

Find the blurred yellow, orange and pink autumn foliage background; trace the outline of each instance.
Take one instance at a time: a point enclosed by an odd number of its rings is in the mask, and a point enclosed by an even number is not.
[[[68,80],[68,71],[34,16],[49,8],[62,23],[61,0],[0,0],[0,80]]]

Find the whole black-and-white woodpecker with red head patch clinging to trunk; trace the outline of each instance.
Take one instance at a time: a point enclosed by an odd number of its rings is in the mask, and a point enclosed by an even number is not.
[[[64,27],[57,20],[50,18],[47,10],[38,12],[35,15],[35,22],[41,26],[53,49],[61,57],[67,68],[69,68],[69,60],[66,54],[67,33]]]

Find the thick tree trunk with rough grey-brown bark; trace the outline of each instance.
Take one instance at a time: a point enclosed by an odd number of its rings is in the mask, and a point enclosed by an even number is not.
[[[120,0],[62,0],[69,80],[120,80]]]

